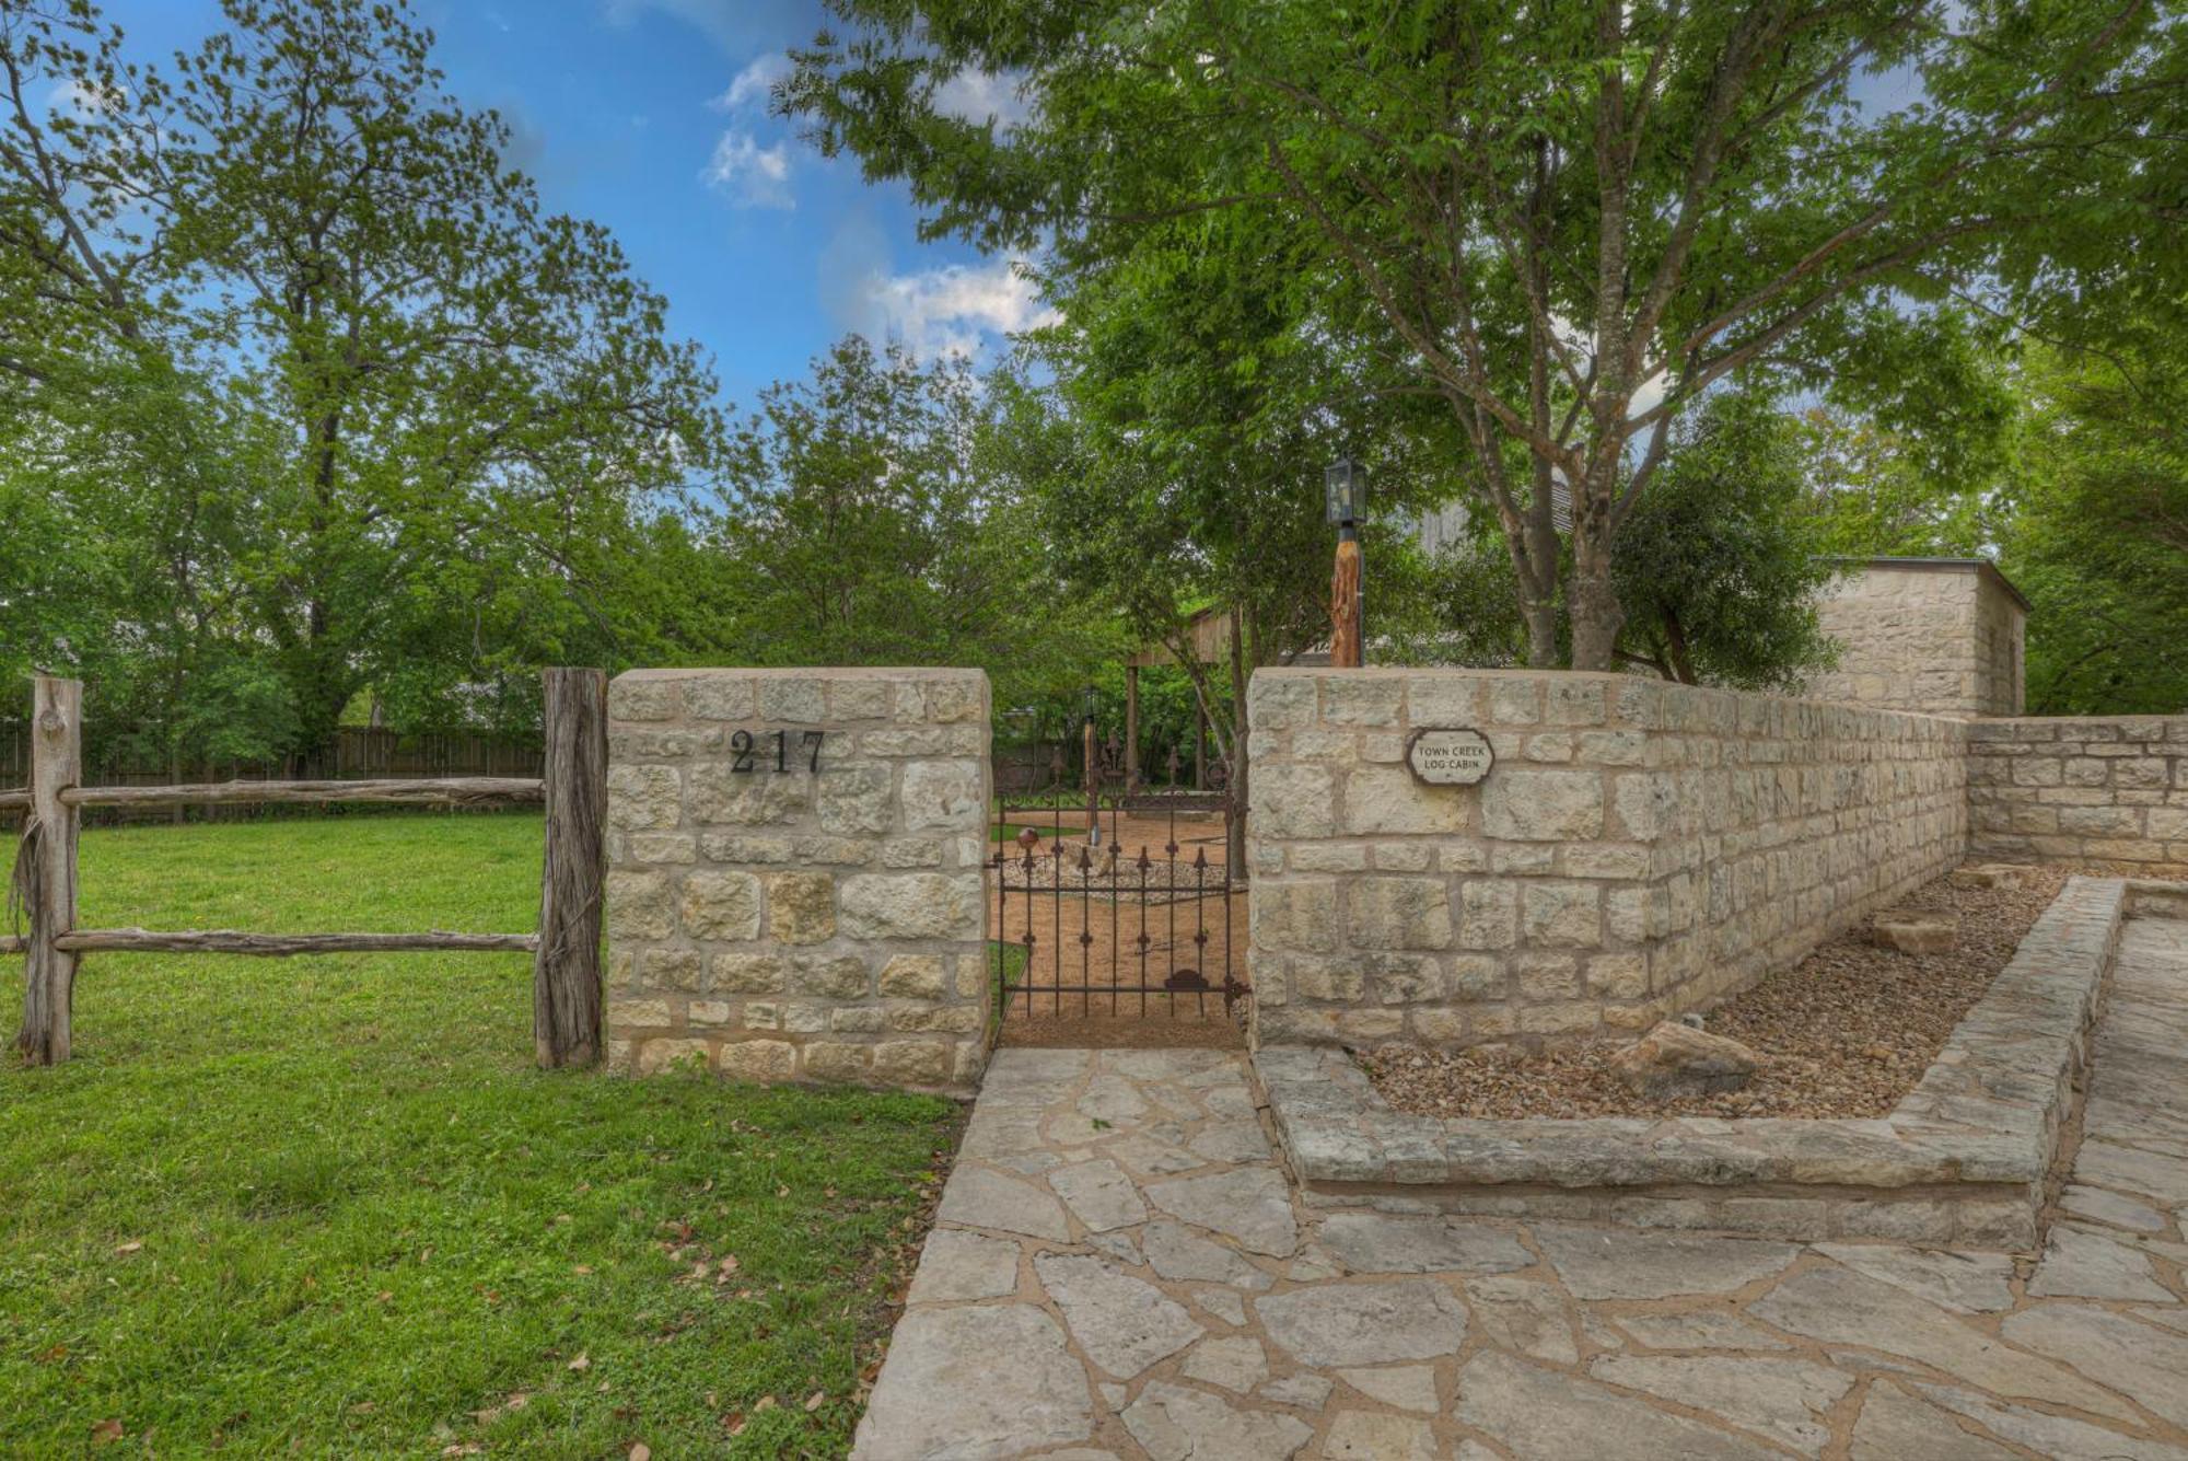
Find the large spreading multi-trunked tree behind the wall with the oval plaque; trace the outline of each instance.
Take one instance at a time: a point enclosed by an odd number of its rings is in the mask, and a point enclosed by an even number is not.
[[[801,52],[781,103],[936,232],[1052,247],[1059,276],[1210,210],[1313,241],[1311,313],[1462,429],[1536,665],[1562,577],[1571,663],[1610,667],[1619,529],[1715,383],[1890,381],[1910,300],[2030,282],[2006,245],[2041,225],[2149,227],[2164,199],[2107,184],[2179,171],[2149,125],[2179,28],[2149,0],[831,9],[853,35]],[[939,107],[961,72],[1020,81],[1026,118]]]

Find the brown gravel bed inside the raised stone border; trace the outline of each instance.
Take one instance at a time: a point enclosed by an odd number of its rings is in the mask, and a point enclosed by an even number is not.
[[[2068,873],[2033,866],[2020,888],[1958,888],[1941,877],[1899,908],[1956,910],[1960,947],[1952,954],[1879,949],[1864,919],[1796,967],[1764,975],[1709,1010],[1711,1032],[1761,1056],[1761,1070],[1739,1091],[1637,1096],[1608,1070],[1626,1039],[1549,1052],[1385,1045],[1361,1063],[1392,1107],[1416,1115],[1890,1115]]]

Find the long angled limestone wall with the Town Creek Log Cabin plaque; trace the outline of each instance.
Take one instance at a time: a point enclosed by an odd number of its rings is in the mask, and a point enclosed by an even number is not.
[[[1249,689],[1265,1045],[1641,1030],[1954,866],[1965,724],[1639,676],[1262,669]],[[1407,737],[1479,728],[1479,785]]]

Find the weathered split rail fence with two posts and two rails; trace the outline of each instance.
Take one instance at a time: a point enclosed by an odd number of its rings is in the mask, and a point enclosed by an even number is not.
[[[608,676],[545,671],[540,776],[416,776],[359,781],[221,781],[88,787],[83,685],[39,676],[31,691],[31,785],[0,792],[0,811],[22,811],[22,844],[9,890],[11,925],[0,954],[24,956],[22,1032],[31,1065],[59,1065],[70,1050],[77,962],[96,951],[158,954],[389,954],[501,949],[532,954],[532,1039],[545,1067],[600,1059],[600,934],[606,884]],[[545,805],[547,857],[538,934],[252,934],[77,927],[77,833],[85,807],[206,807],[245,803],[389,803],[405,807]]]

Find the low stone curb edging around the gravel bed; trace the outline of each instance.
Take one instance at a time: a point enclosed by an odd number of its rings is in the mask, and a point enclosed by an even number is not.
[[[2033,1249],[2129,905],[2122,879],[2068,879],[1882,1120],[1442,1120],[1394,1111],[1343,1050],[1254,1065],[1317,1205]]]

